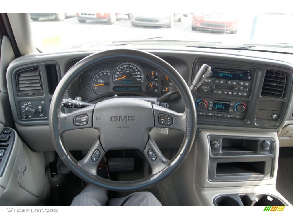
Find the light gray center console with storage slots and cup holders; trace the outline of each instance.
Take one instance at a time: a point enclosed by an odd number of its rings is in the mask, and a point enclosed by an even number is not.
[[[200,129],[195,146],[196,205],[290,206],[275,188],[278,155],[276,133]]]

